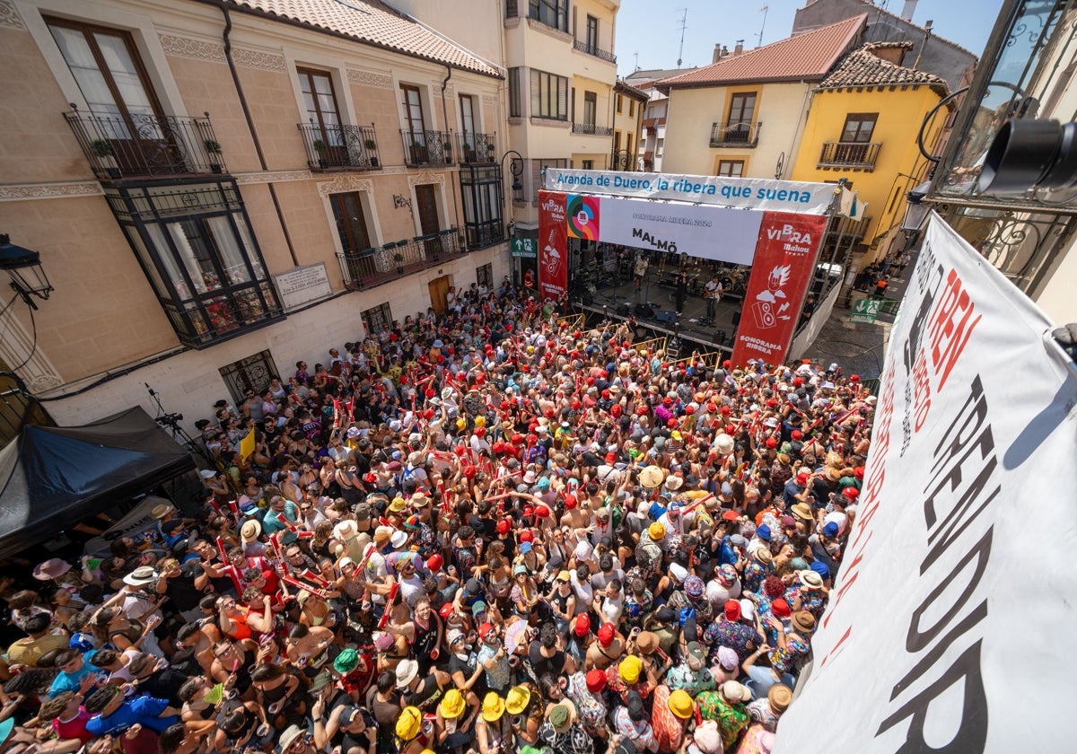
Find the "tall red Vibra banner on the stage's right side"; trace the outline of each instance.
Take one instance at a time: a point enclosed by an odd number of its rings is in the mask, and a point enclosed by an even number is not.
[[[768,364],[785,361],[825,228],[822,215],[763,213],[733,364],[742,366],[750,359]]]

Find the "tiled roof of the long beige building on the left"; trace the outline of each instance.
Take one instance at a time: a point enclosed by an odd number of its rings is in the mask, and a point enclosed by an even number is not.
[[[235,10],[306,26],[482,75],[496,68],[379,0],[228,0]]]

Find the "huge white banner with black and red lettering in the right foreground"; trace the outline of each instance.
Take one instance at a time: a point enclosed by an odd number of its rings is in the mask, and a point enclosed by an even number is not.
[[[1077,374],[1052,326],[932,214],[777,754],[1073,751]]]

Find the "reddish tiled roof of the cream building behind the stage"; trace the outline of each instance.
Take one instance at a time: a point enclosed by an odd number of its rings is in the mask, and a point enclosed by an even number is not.
[[[867,14],[723,58],[658,82],[669,89],[736,83],[821,81],[864,29]]]

